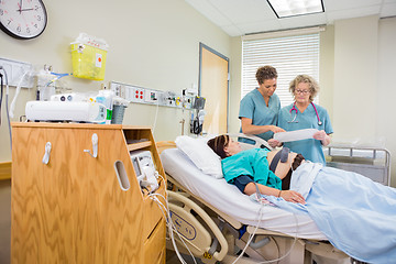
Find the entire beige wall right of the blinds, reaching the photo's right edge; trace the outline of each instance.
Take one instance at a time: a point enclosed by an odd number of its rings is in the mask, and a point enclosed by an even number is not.
[[[386,147],[396,153],[393,75],[396,19],[365,16],[334,23],[334,141]],[[392,186],[396,186],[392,158]]]

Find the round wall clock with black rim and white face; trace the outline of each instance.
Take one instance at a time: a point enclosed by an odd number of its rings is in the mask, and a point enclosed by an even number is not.
[[[45,30],[47,14],[41,0],[0,0],[0,29],[22,40],[38,36]]]

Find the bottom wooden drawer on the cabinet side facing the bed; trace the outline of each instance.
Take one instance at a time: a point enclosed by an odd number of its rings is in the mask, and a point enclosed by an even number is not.
[[[144,263],[165,263],[165,220],[162,220],[144,242]]]

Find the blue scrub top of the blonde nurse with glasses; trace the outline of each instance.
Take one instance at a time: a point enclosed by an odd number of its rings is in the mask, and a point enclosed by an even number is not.
[[[293,103],[292,103],[280,109],[279,118],[278,118],[278,127],[283,128],[286,131],[317,129],[317,130],[324,130],[327,134],[333,133],[333,129],[330,122],[330,117],[327,110],[318,105],[315,106],[318,110],[320,121],[322,121],[321,125],[318,124],[318,118],[312,105],[309,105],[302,113],[298,111],[298,108],[296,107],[298,113],[295,121],[298,122],[290,122],[296,113],[296,111],[293,110],[290,114],[290,109],[293,108]],[[308,161],[311,161],[314,163],[321,163],[326,165],[324,153],[322,150],[321,141],[315,139],[308,139],[308,140],[285,142],[284,146],[287,146],[293,152],[301,153],[302,156]]]

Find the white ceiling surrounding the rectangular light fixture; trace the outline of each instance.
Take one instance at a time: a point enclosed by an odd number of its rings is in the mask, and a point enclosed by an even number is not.
[[[277,19],[266,0],[185,0],[230,36],[396,15],[396,0],[323,0],[324,13]]]

